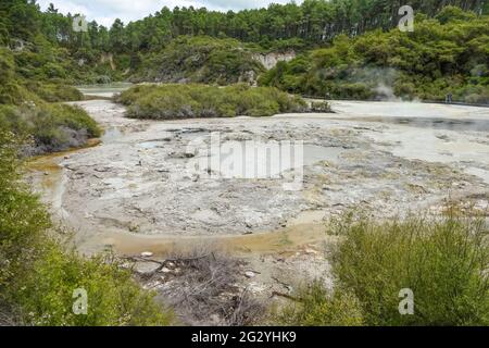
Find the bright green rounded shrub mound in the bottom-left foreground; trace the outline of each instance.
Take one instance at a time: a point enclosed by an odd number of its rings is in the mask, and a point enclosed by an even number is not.
[[[87,314],[73,312],[75,289],[87,291]],[[116,262],[82,259],[52,245],[15,291],[23,321],[48,326],[168,325],[170,311],[155,304]]]

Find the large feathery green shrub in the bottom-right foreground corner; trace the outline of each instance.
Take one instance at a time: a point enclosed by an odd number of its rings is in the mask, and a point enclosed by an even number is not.
[[[487,325],[489,248],[484,221],[409,219],[342,226],[334,256],[338,290],[360,300],[368,325]],[[399,293],[414,293],[400,315]]]

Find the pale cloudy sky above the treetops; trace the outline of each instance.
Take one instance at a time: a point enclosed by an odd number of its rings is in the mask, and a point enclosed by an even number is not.
[[[175,7],[202,8],[210,10],[228,11],[242,9],[258,9],[267,7],[269,3],[287,3],[291,0],[38,0],[42,10],[54,3],[54,8],[66,14],[80,13],[87,16],[88,21],[96,20],[97,23],[105,26],[112,25],[115,18],[123,20],[124,23],[142,18],[151,13],[161,10],[163,7],[173,9]],[[302,0],[296,0],[297,3]]]

